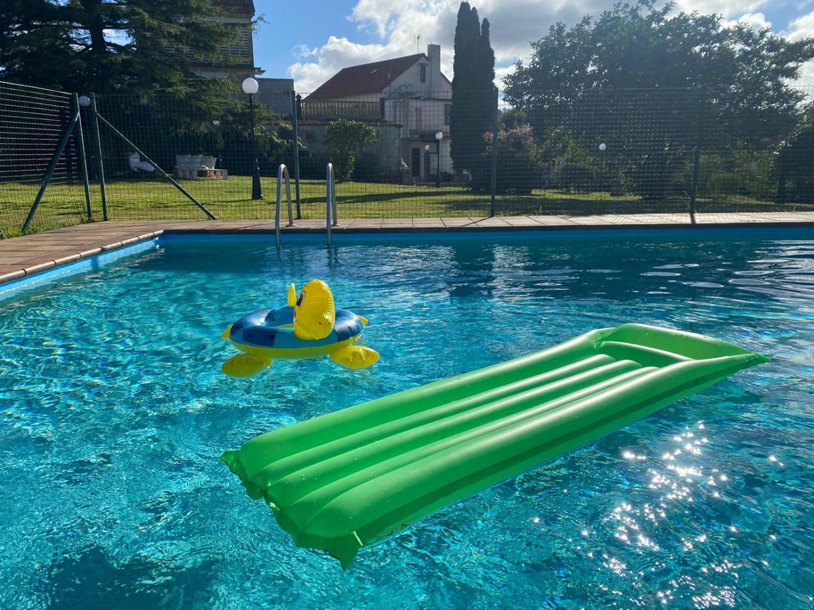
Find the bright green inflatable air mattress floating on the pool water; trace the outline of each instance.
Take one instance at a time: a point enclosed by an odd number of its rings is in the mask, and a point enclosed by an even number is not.
[[[622,325],[261,434],[221,460],[300,547],[357,551],[449,503],[767,362]]]

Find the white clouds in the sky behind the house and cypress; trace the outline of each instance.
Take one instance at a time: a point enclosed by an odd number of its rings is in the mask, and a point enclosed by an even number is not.
[[[441,70],[452,78],[453,37],[460,0],[357,0],[348,20],[360,30],[368,30],[379,42],[360,44],[346,37],[330,37],[314,49],[300,48],[298,61],[288,68],[300,91],[313,91],[342,68],[416,52],[414,37],[420,33],[421,46],[441,45]],[[575,24],[584,15],[597,17],[613,6],[615,0],[470,0],[481,18],[492,24],[492,48],[497,68],[495,82],[514,69],[518,59],[527,59],[530,41],[545,36],[557,21]],[[763,12],[757,12],[768,0],[678,0],[676,11],[717,13],[724,23],[745,23],[752,28],[770,28]],[[782,33],[790,40],[814,37],[814,11],[792,21]],[[807,82],[814,85],[814,65],[804,66]]]

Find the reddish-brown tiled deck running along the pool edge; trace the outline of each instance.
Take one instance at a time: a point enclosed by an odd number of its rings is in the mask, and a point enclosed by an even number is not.
[[[653,229],[814,226],[814,212],[732,212],[604,216],[495,216],[492,218],[341,219],[335,233],[478,232],[558,229]],[[325,220],[298,220],[283,233],[325,233]],[[274,233],[270,220],[140,220],[77,224],[0,240],[0,283],[28,277],[157,237],[162,233]]]

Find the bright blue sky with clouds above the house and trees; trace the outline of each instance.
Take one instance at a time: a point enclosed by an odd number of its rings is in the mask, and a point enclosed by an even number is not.
[[[492,23],[498,79],[517,59],[527,57],[528,41],[550,24],[575,23],[597,15],[615,0],[474,0],[481,17]],[[459,0],[306,0],[285,22],[279,2],[255,0],[265,15],[255,38],[256,63],[265,76],[295,78],[303,92],[313,90],[340,68],[416,52],[414,37],[442,46],[442,70],[452,76],[452,41]],[[814,37],[814,0],[679,0],[685,11],[715,12],[725,20],[770,26],[791,38]],[[814,85],[814,65],[804,67],[804,81]]]

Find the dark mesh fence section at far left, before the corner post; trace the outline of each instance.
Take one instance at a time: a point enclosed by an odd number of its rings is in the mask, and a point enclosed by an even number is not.
[[[0,82],[0,235],[19,235],[68,129],[71,94]],[[77,135],[59,156],[30,230],[87,220]]]

